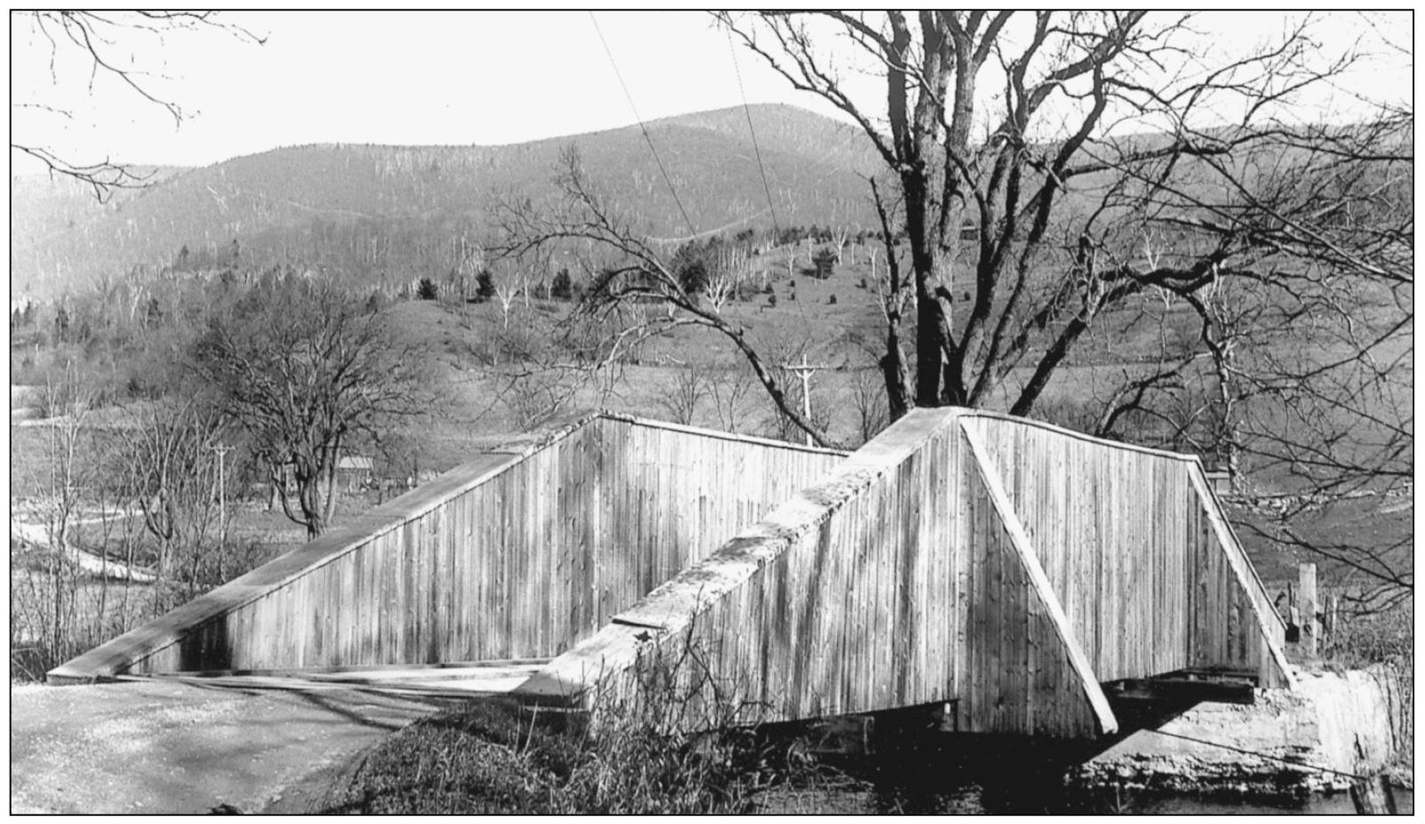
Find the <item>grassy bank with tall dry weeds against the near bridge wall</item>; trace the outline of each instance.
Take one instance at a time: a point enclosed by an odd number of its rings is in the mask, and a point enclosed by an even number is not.
[[[606,682],[583,716],[492,700],[420,720],[382,741],[312,811],[752,811],[755,793],[805,766],[791,756],[797,743],[770,743],[745,726],[755,707],[728,699],[737,690],[715,683],[691,635],[675,652],[641,657],[617,686]]]

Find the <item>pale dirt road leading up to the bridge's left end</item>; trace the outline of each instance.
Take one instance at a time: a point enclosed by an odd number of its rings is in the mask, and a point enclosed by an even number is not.
[[[355,753],[443,706],[352,689],[14,686],[10,811],[306,811],[284,794],[311,796]]]

